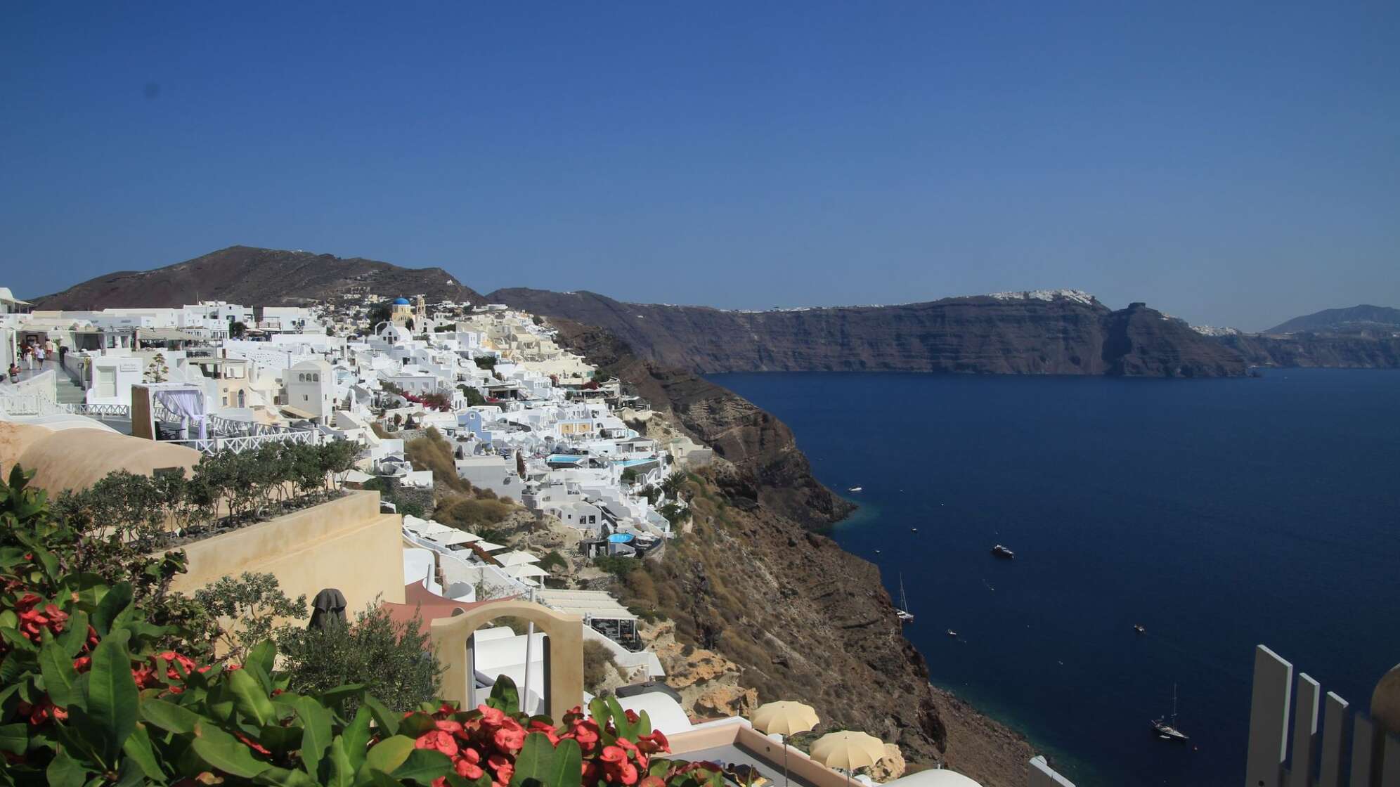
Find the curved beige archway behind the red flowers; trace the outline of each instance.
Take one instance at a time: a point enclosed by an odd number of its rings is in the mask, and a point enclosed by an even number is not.
[[[547,634],[546,710],[552,717],[563,718],[566,710],[584,699],[584,619],[528,601],[483,604],[461,615],[433,620],[428,634],[442,660],[442,699],[466,704],[473,679],[466,660],[466,643],[482,626],[508,616],[528,620],[538,632]]]

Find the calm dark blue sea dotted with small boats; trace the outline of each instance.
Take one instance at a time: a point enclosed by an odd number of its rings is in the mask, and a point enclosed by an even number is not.
[[[1259,643],[1359,707],[1400,661],[1400,372],[713,379],[864,487],[833,535],[932,681],[1081,787],[1239,784]]]

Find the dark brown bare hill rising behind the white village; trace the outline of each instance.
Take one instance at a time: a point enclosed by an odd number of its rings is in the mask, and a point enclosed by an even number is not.
[[[484,302],[441,267],[399,267],[363,258],[230,246],[153,270],[122,270],[31,298],[36,309],[179,307],[199,300],[245,305],[298,305],[329,300],[350,287],[377,295]]]

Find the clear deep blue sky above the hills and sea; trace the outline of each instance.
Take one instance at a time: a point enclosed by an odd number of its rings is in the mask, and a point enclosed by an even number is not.
[[[1397,3],[8,3],[0,284],[246,244],[721,307],[1400,305]]]

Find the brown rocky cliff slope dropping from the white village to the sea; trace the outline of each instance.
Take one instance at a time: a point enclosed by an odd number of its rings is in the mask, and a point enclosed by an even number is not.
[[[671,427],[721,457],[685,485],[692,520],[683,536],[616,588],[627,604],[669,619],[675,658],[689,664],[713,651],[739,667],[736,686],[706,702],[717,711],[806,702],[822,730],[869,731],[897,742],[910,763],[942,762],[988,787],[1025,783],[1030,746],[932,689],[879,569],[813,532],[850,504],[812,478],[787,426],[692,372],[637,357],[606,330],[550,323]],[[692,690],[694,672],[679,669],[676,688]]]

